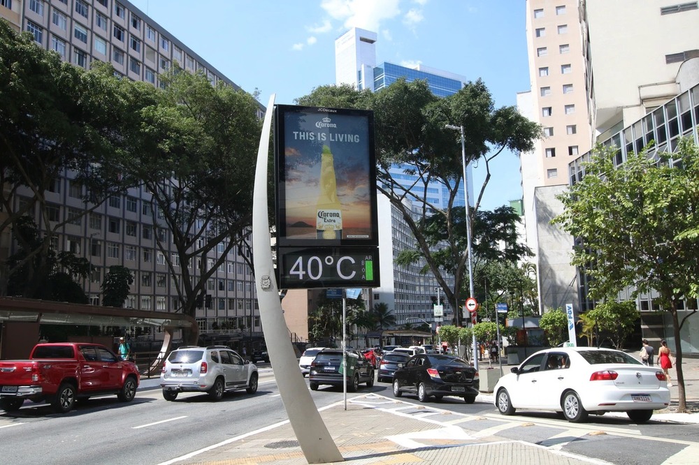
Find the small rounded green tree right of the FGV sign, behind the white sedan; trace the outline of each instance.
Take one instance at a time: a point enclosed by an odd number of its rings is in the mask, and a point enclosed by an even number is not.
[[[636,308],[636,302],[626,300],[617,302],[607,300],[598,302],[595,308],[587,312],[589,318],[594,320],[598,329],[598,342],[603,336],[612,339],[612,343],[619,350],[624,346],[624,341],[633,332],[641,313]]]

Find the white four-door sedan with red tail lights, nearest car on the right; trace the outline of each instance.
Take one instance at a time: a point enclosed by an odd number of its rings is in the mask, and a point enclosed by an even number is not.
[[[561,412],[570,422],[582,422],[590,413],[622,411],[634,422],[646,422],[654,410],[670,405],[663,371],[621,350],[540,350],[511,371],[493,390],[503,415],[527,408]]]

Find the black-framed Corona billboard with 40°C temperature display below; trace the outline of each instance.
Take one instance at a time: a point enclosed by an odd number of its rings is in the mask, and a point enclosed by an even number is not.
[[[373,112],[277,105],[274,121],[280,288],[377,286]]]

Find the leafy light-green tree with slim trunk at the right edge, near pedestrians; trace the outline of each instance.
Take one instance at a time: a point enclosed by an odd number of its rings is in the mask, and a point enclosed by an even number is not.
[[[699,296],[699,149],[680,140],[674,154],[627,154],[616,165],[616,147],[597,147],[584,177],[560,195],[565,211],[554,219],[576,238],[572,265],[591,277],[589,296],[605,300],[630,288],[632,297],[656,290],[670,313],[679,388],[686,411],[679,320],[684,299]]]

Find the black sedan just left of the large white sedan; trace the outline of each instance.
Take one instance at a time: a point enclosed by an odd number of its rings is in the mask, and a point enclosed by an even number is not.
[[[454,355],[419,354],[411,357],[394,373],[394,396],[417,394],[421,402],[430,396],[441,400],[444,396],[463,397],[473,404],[480,388],[478,371]]]

